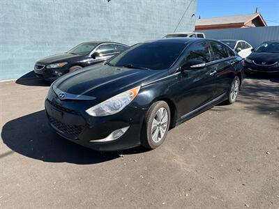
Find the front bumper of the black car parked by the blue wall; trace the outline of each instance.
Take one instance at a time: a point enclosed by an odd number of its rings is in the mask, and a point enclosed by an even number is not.
[[[36,68],[36,65],[43,66],[43,68],[38,69]],[[62,68],[47,68],[45,63],[36,63],[36,65],[34,67],[36,77],[45,79],[47,81],[54,81],[68,72],[68,68],[66,66],[63,66]]]

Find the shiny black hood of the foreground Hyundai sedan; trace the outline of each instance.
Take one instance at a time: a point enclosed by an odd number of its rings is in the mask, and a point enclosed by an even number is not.
[[[167,75],[166,70],[119,68],[100,63],[68,73],[54,82],[54,88],[73,95],[105,100],[136,86],[142,86]]]

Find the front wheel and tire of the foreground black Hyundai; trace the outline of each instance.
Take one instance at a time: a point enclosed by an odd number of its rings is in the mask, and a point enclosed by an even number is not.
[[[169,105],[166,102],[153,103],[145,117],[141,139],[142,146],[155,149],[163,144],[169,130],[170,119]]]

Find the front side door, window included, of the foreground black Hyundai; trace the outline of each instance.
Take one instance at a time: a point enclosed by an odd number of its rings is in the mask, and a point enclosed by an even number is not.
[[[188,53],[181,62],[181,66],[188,61],[211,62],[211,50],[209,42],[206,40],[199,43],[194,42],[187,51]],[[178,105],[178,116],[181,120],[212,100],[213,93],[216,91],[213,71],[211,65],[206,65],[204,68],[181,72],[179,80],[172,86],[173,89],[176,89],[176,104]]]

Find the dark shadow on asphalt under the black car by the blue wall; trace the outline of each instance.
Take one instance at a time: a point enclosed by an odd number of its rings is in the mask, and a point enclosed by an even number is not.
[[[15,83],[24,86],[50,86],[52,84],[52,82],[47,82],[44,79],[36,77],[33,70],[22,75]]]

